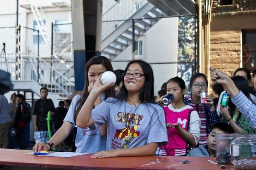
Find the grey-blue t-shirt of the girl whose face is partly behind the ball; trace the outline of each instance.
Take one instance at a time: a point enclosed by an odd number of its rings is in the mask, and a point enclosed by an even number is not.
[[[75,126],[74,114],[76,102],[81,99],[81,94],[76,95],[67,111],[64,121],[70,122],[72,127]],[[104,96],[105,97],[105,96]],[[104,98],[103,98],[104,99]],[[106,150],[106,136],[101,136],[99,130],[92,131],[89,127],[77,127],[76,133],[76,153],[96,153]]]

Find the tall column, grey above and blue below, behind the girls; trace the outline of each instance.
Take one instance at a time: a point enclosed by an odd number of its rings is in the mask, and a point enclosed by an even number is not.
[[[82,91],[86,62],[101,51],[102,0],[71,1],[76,91]]]

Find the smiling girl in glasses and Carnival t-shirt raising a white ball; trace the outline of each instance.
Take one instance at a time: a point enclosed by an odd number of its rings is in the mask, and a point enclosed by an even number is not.
[[[133,60],[123,75],[116,98],[108,98],[92,110],[96,97],[113,85],[102,85],[100,76],[77,116],[79,127],[90,126],[92,130],[108,123],[107,149],[92,158],[153,156],[157,147],[168,141],[163,108],[154,102],[151,66]]]

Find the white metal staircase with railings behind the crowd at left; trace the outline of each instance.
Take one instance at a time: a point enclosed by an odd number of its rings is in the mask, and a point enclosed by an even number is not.
[[[20,81],[15,81],[15,67],[13,65],[15,65],[16,55],[6,54],[6,58],[8,60],[8,68],[9,72],[11,73],[11,80],[15,84],[15,90],[32,91],[35,94],[40,94],[38,91],[38,86],[47,87],[50,96],[53,97],[53,100],[55,101],[67,99],[75,91],[75,83],[72,81],[72,78],[67,78],[67,73],[66,76],[63,75],[67,71],[67,68],[64,68],[63,71],[56,70],[54,67],[50,65],[49,62],[45,61],[41,57],[34,55],[33,53],[21,53],[20,56]],[[38,59],[40,63],[39,80],[37,79]],[[3,57],[0,58],[0,68],[5,71],[7,70],[6,62]],[[55,73],[54,75],[52,75],[52,77],[49,76],[50,71],[53,71]],[[71,72],[72,69],[70,69],[69,71]],[[55,104],[58,105],[58,103]]]

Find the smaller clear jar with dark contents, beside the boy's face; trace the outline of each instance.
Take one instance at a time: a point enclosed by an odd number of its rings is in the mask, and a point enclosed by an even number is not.
[[[216,141],[216,161],[217,164],[231,164],[231,142],[239,136],[237,133],[217,133]]]

